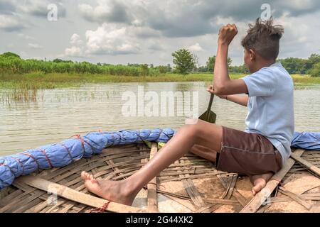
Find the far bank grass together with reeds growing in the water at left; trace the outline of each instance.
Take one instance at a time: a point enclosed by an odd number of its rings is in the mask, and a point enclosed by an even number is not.
[[[230,74],[232,79],[239,79],[245,74]],[[308,75],[292,75],[296,89],[311,87],[320,84],[320,77]],[[35,102],[41,91],[45,89],[73,88],[87,86],[87,84],[124,83],[124,82],[206,82],[206,85],[213,83],[213,75],[203,74],[159,74],[155,76],[123,76],[111,74],[90,74],[90,73],[43,73],[31,72],[25,74],[0,73],[0,102]],[[0,91],[1,91],[0,90]],[[110,94],[105,94],[105,97]],[[70,94],[70,97],[73,95]],[[90,99],[99,96],[93,91],[85,95]],[[74,99],[73,97],[69,99]],[[88,99],[88,98],[85,98]]]

